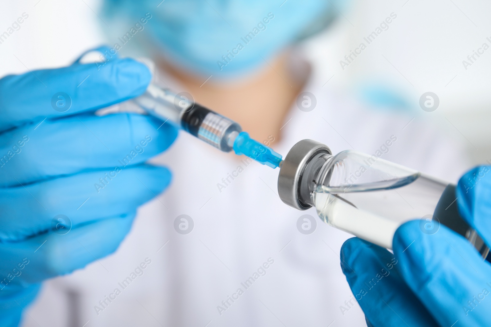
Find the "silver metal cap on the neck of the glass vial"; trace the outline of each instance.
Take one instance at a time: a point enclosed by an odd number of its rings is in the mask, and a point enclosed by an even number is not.
[[[278,176],[278,194],[281,201],[299,210],[311,207],[310,204],[302,201],[301,178],[309,162],[323,154],[331,154],[330,149],[322,143],[309,139],[301,140],[290,149],[283,160]]]

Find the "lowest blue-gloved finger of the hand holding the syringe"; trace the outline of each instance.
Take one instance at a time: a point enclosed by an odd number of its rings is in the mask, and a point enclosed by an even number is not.
[[[12,277],[5,286],[38,283],[105,257],[116,251],[134,218],[132,212],[77,226],[63,235],[50,231],[21,242],[0,243],[1,276]]]

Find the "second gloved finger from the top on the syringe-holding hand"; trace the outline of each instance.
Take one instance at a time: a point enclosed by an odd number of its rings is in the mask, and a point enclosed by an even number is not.
[[[176,136],[170,124],[137,114],[76,115],[46,120],[36,130],[15,128],[0,137],[5,153],[0,187],[139,164],[167,149]]]

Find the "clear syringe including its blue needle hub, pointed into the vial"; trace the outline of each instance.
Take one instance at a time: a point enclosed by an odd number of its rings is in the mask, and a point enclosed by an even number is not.
[[[236,122],[192,101],[188,93],[175,94],[150,83],[145,93],[132,99],[148,114],[182,128],[224,152],[234,151],[272,168],[280,166],[281,154],[251,139]]]

